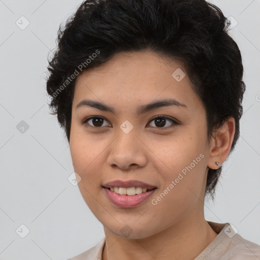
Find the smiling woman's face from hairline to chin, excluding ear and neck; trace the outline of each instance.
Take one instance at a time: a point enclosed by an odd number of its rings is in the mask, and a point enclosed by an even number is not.
[[[206,111],[183,72],[178,61],[140,51],[118,53],[76,80],[70,150],[78,186],[92,213],[117,236],[126,229],[129,238],[146,238],[203,214]],[[142,109],[166,99],[176,102]],[[115,180],[155,188],[134,196],[104,188]]]

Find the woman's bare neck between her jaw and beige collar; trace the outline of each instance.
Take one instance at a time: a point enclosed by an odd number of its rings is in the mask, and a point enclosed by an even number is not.
[[[104,227],[106,243],[103,260],[181,260],[196,258],[217,236],[204,216],[182,219],[164,231],[143,239],[114,235]]]

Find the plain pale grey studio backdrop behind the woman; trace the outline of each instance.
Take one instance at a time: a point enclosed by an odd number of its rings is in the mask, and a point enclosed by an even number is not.
[[[104,237],[70,180],[69,144],[49,114],[47,56],[60,22],[82,1],[0,1],[0,259],[67,259]],[[260,244],[260,1],[214,1],[232,19],[244,64],[241,136],[223,164],[207,220],[230,222]]]

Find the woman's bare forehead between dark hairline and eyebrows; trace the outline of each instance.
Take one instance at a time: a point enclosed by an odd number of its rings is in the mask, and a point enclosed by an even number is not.
[[[175,72],[183,77],[180,81],[176,80]],[[151,51],[117,53],[106,63],[77,77],[73,106],[85,98],[113,107],[140,106],[156,99],[174,98],[192,108],[198,103],[198,96],[184,75],[182,62]]]

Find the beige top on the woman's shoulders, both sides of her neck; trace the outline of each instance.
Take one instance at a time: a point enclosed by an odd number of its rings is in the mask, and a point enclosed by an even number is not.
[[[207,222],[218,235],[194,260],[260,260],[260,246],[243,239],[230,223]],[[68,260],[102,260],[104,246],[105,238]]]

